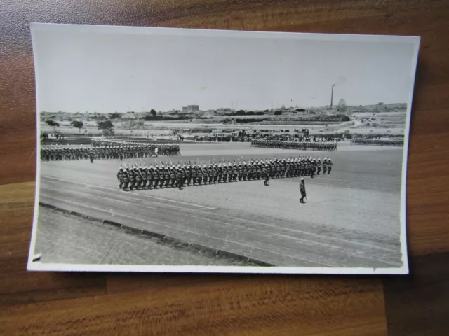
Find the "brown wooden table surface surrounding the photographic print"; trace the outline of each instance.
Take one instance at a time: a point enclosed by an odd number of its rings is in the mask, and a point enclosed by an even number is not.
[[[449,1],[0,3],[1,335],[449,335]],[[36,118],[29,22],[422,36],[408,165],[409,276],[25,270]]]

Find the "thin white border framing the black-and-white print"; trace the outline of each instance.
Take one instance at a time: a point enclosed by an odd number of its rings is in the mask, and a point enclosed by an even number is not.
[[[407,165],[408,148],[410,141],[410,121],[415,90],[415,75],[417,60],[420,49],[420,36],[397,36],[397,35],[358,35],[358,34],[316,34],[274,31],[234,31],[215,29],[185,29],[185,28],[161,28],[161,27],[128,27],[109,25],[67,25],[53,23],[32,23],[30,29],[32,36],[35,31],[53,31],[58,26],[58,31],[78,31],[82,33],[104,33],[104,34],[157,34],[177,36],[217,36],[232,38],[276,38],[276,39],[302,39],[321,41],[364,41],[364,42],[391,42],[412,43],[414,45],[413,59],[411,62],[410,96],[407,102],[406,127],[404,130],[404,146],[401,174],[401,258],[403,265],[392,268],[371,267],[259,267],[259,266],[194,266],[194,265],[83,265],[83,264],[60,264],[42,263],[34,260],[34,248],[36,244],[36,232],[39,218],[39,190],[41,172],[41,127],[39,109],[39,78],[36,71],[36,48],[35,39],[32,38],[34,74],[36,84],[36,189],[34,197],[34,216],[32,225],[32,236],[29,245],[27,270],[29,271],[62,271],[62,272],[155,272],[155,273],[254,273],[254,274],[408,274],[408,248],[406,234],[406,188],[407,188]]]

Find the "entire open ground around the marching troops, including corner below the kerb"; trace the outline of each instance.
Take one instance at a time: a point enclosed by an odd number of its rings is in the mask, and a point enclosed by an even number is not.
[[[335,152],[305,152],[249,143],[189,143],[180,151],[156,159],[41,162],[39,202],[267,265],[401,267],[403,148],[344,143]],[[259,180],[128,192],[119,190],[116,179],[126,162],[193,164],[300,155],[326,156],[334,163],[332,174],[305,178],[305,204],[299,202],[300,177],[273,179],[269,186]],[[35,253],[42,254],[41,262],[242,265],[201,251],[182,252],[88,218],[53,216],[58,211],[48,207],[39,211]]]

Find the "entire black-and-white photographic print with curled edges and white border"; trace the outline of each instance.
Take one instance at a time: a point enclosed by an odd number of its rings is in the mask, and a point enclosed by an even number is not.
[[[419,37],[31,31],[28,269],[408,274]]]

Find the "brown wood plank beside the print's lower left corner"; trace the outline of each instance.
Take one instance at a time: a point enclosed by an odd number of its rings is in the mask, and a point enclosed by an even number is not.
[[[0,309],[106,293],[102,274],[27,272],[33,182],[0,186],[0,204]]]

